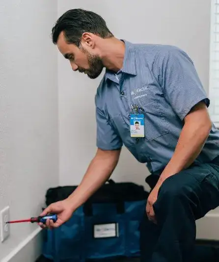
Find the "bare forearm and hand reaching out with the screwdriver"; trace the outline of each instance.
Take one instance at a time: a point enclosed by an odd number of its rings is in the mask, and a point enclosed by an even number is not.
[[[89,199],[110,177],[120,155],[118,150],[97,150],[97,153],[83,176],[82,182],[65,200],[55,202],[46,208],[40,216],[49,213],[57,214],[57,221],[47,220],[46,224],[39,223],[42,228],[57,228],[69,220],[72,213]]]

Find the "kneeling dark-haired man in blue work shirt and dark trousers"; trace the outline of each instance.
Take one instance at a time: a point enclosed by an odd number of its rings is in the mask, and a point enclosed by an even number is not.
[[[124,144],[159,175],[141,227],[142,260],[192,261],[195,220],[219,206],[219,131],[192,60],[176,47],[119,40],[82,9],[63,14],[52,35],[73,71],[106,73],[95,97],[96,155],[74,193],[41,214],[58,215],[47,227],[66,222],[109,179]],[[144,121],[143,137],[130,135],[133,115]]]

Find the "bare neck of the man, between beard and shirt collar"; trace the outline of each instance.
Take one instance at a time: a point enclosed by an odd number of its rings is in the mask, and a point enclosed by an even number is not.
[[[101,58],[104,66],[114,72],[123,66],[125,56],[125,43],[115,37],[101,39]]]

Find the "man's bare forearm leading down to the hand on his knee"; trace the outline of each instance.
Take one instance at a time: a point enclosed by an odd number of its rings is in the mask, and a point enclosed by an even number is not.
[[[174,154],[164,168],[159,183],[163,183],[167,177],[189,167],[200,154],[211,130],[211,122],[209,119],[206,121],[204,119],[194,120],[195,119],[191,117],[191,119],[185,123]]]

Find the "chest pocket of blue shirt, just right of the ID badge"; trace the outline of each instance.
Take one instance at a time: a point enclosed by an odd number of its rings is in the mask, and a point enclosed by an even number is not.
[[[169,125],[164,116],[164,108],[161,110],[158,102],[151,102],[142,108],[145,140],[151,141],[169,132]]]

